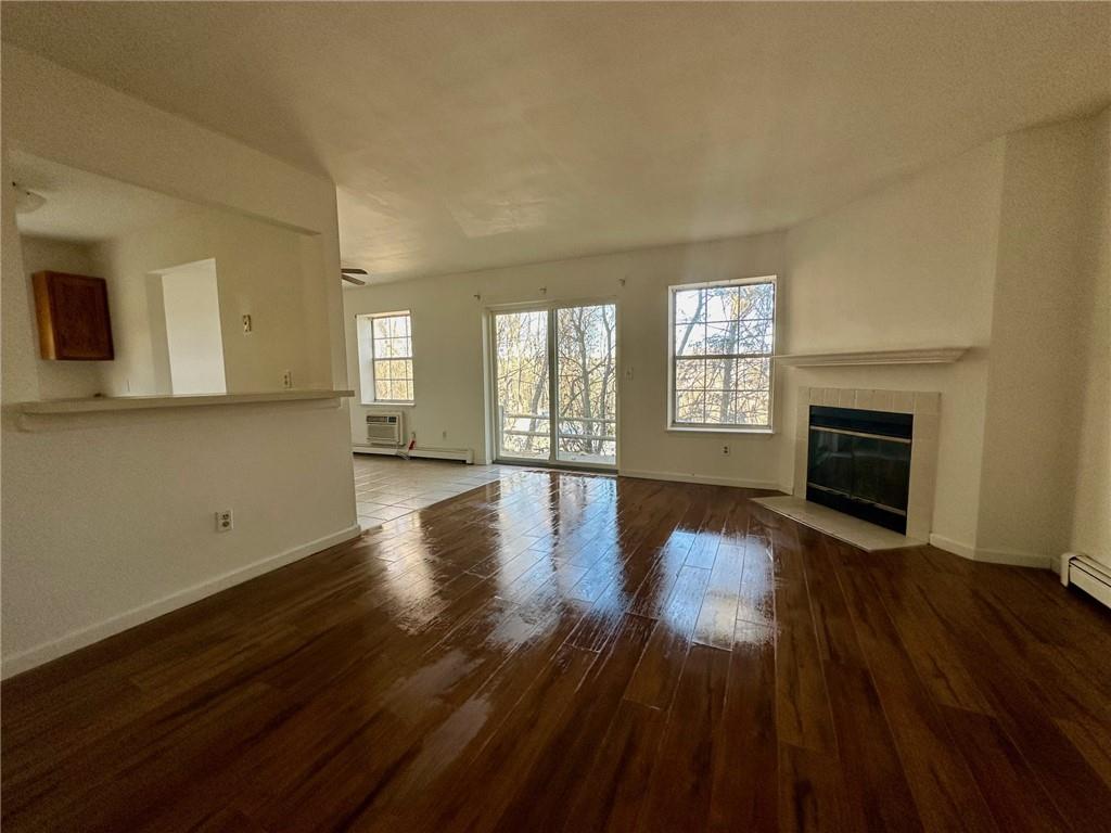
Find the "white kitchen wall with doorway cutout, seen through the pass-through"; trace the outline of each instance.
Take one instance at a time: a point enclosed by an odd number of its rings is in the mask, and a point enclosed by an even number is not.
[[[316,249],[312,262],[306,251]],[[229,392],[273,391],[290,370],[296,388],[328,387],[331,322],[310,300],[321,294],[320,242],[273,223],[201,208],[90,248],[97,274],[108,279],[116,361],[103,365],[110,395],[169,393],[164,322],[150,277],[167,268],[213,259]],[[306,270],[306,263],[309,269]],[[242,315],[252,331],[244,333]]]

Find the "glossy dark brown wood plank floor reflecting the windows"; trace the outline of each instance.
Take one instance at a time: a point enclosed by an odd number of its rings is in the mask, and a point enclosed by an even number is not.
[[[4,831],[1107,831],[1111,618],[520,471],[3,686]]]

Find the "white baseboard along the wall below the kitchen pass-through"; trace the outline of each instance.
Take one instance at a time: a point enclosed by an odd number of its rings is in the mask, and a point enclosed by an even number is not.
[[[348,526],[330,535],[318,538],[316,541],[309,541],[300,546],[280,552],[277,555],[270,555],[251,564],[221,573],[199,584],[174,591],[161,599],[156,599],[138,608],[132,608],[101,622],[71,631],[59,639],[10,654],[4,656],[2,663],[0,663],[0,678],[7,680],[9,676],[29,671],[51,660],[57,660],[59,656],[64,656],[68,653],[91,645],[93,642],[100,642],[109,636],[114,636],[117,633],[127,631],[143,622],[149,622],[170,611],[178,610],[178,608],[184,608],[187,604],[198,602],[201,599],[219,593],[221,590],[227,590],[236,584],[242,584],[244,581],[254,579],[263,573],[269,573],[271,570],[277,570],[280,566],[291,564],[321,550],[327,550],[329,546],[350,541],[353,538],[358,538],[361,533],[362,529],[360,526]]]

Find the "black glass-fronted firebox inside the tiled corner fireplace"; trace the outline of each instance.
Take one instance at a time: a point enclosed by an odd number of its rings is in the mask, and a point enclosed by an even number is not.
[[[907,532],[909,413],[810,407],[807,500]]]

